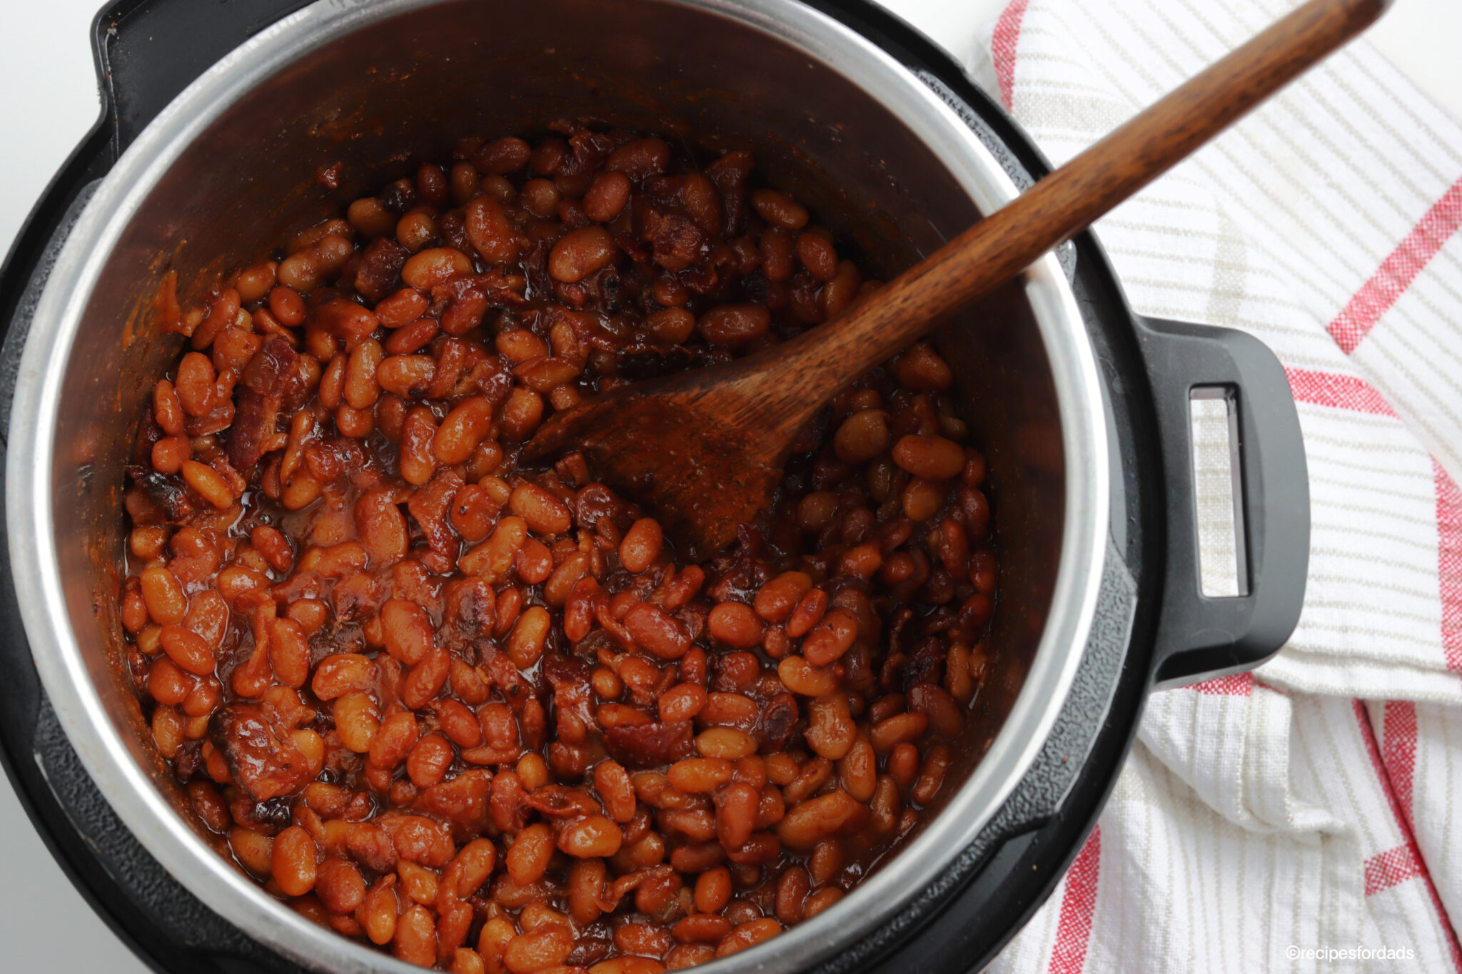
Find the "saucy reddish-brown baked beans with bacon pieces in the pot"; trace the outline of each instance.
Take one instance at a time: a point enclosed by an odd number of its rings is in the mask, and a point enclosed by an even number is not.
[[[118,596],[158,752],[240,869],[424,967],[648,974],[898,847],[949,787],[997,578],[934,348],[839,393],[702,564],[582,456],[519,464],[554,410],[877,286],[749,152],[468,139],[281,253],[184,318]]]

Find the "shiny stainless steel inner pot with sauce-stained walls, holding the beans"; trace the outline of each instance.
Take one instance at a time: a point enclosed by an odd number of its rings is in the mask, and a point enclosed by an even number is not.
[[[175,270],[187,307],[215,275],[402,175],[406,153],[443,156],[459,136],[580,115],[699,149],[754,149],[773,184],[885,275],[1016,193],[917,77],[794,0],[319,0],[146,129],[88,203],[35,314],[6,476],[15,584],[47,694],[139,841],[221,916],[307,967],[417,970],[304,920],[219,854],[118,667],[121,466],[180,345],[155,327],[152,296]],[[336,191],[314,181],[333,162]],[[838,905],[708,971],[810,965],[923,891],[1026,771],[1080,662],[1108,453],[1091,348],[1056,258],[939,342],[990,459],[1001,558],[996,666],[962,786]]]

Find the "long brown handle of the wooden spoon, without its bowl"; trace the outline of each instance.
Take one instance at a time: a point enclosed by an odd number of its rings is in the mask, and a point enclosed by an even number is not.
[[[803,359],[798,371],[807,386],[798,394],[830,396],[933,329],[942,314],[1015,277],[1364,31],[1387,6],[1390,0],[1310,0],[860,301],[833,327],[782,345],[784,361]],[[819,380],[827,388],[810,388]]]

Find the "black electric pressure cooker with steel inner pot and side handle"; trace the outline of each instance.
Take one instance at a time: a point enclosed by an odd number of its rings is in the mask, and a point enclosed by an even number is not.
[[[94,45],[102,118],[0,279],[6,771],[76,886],[159,971],[414,970],[219,854],[121,673],[123,457],[178,348],[154,321],[164,277],[187,307],[459,136],[561,117],[750,146],[883,275],[1050,166],[946,53],[861,0],[123,0]],[[1079,850],[1146,695],[1253,667],[1298,619],[1304,447],[1262,343],[1133,314],[1091,234],[936,340],[990,461],[1000,549],[963,783],[839,904],[716,971],[982,967]],[[1228,597],[1199,577],[1194,397],[1228,410]]]

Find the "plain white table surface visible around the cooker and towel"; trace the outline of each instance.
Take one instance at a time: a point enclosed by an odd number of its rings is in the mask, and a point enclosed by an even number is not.
[[[88,28],[99,0],[0,0],[0,245],[96,117]],[[1004,0],[887,0],[961,60]],[[1462,118],[1462,3],[1398,0],[1370,39],[1431,98]],[[0,778],[0,970],[142,974],[139,962],[51,860]]]

